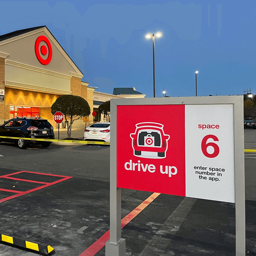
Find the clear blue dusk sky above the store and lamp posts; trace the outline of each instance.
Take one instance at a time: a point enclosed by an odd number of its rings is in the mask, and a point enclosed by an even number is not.
[[[157,4],[156,4],[157,2]],[[0,35],[46,25],[89,86],[112,94],[256,94],[256,1],[0,1]]]

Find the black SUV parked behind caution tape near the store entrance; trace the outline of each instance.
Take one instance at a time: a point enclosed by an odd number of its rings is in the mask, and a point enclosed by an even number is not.
[[[20,139],[0,138],[1,141],[15,142],[25,149],[30,144],[49,147],[50,141],[23,140],[21,138],[54,139],[53,127],[41,117],[15,117],[0,125],[0,136],[20,137]]]

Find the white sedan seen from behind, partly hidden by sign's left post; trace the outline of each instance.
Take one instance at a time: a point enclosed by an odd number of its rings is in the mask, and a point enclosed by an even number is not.
[[[85,140],[110,142],[110,122],[94,123],[85,128]]]

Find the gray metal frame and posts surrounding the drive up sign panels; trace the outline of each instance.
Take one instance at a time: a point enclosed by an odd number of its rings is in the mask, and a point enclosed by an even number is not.
[[[125,256],[125,239],[121,238],[121,188],[116,187],[116,114],[117,106],[176,105],[176,104],[233,104],[234,159],[236,201],[236,256],[245,256],[245,174],[243,96],[162,97],[140,99],[111,99],[110,144],[110,239],[106,256]]]

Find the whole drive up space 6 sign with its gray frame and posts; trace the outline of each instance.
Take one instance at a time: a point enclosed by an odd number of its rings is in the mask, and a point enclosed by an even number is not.
[[[243,145],[243,96],[111,99],[110,216],[120,188],[236,202],[244,253]],[[106,256],[122,255],[118,237],[110,229]]]

